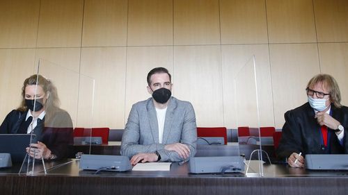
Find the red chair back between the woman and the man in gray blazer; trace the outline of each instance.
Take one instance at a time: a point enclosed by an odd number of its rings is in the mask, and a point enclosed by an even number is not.
[[[92,130],[92,132],[90,132]],[[103,144],[109,142],[109,128],[74,128],[74,137],[102,137]]]

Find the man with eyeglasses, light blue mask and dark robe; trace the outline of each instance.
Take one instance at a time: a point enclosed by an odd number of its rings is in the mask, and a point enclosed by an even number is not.
[[[306,154],[348,153],[348,108],[328,74],[318,74],[306,87],[308,102],[285,112],[277,157],[291,167],[304,167]]]

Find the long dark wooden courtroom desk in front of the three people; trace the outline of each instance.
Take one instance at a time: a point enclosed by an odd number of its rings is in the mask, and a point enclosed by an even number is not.
[[[307,171],[285,164],[264,165],[264,177],[243,174],[189,174],[187,164],[171,165],[171,171],[124,173],[79,169],[79,160],[49,164],[48,174],[35,176],[0,169],[1,194],[347,194],[348,173]],[[64,164],[65,163],[65,164]],[[13,167],[15,169],[15,167]],[[7,173],[4,173],[7,172]],[[14,171],[15,172],[15,171]]]

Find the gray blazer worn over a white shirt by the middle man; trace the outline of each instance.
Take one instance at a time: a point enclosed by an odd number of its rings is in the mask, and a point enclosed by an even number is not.
[[[164,121],[163,142],[159,144],[158,122],[152,98],[139,101],[129,112],[125,132],[122,135],[121,155],[132,158],[137,153],[159,152],[161,162],[179,162],[177,152],[164,149],[166,144],[187,144],[190,156],[196,154],[196,115],[188,101],[180,101],[173,96],[169,99]]]

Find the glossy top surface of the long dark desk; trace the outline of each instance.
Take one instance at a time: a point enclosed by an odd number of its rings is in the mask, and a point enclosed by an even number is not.
[[[79,159],[67,159],[59,162],[45,162],[47,175],[61,176],[117,176],[117,177],[260,177],[260,178],[284,178],[284,177],[347,177],[348,171],[345,170],[308,170],[303,168],[289,167],[287,164],[269,164],[259,160],[246,160],[246,167],[242,173],[189,173],[189,163],[179,164],[173,162],[170,171],[95,171],[82,170],[79,168]],[[260,170],[260,163],[262,169]],[[247,164],[250,164],[249,166]],[[1,175],[26,175],[26,164],[19,173],[22,164],[13,164],[13,167],[1,168]],[[29,171],[33,167],[29,166]],[[246,172],[248,171],[248,172]],[[263,173],[262,173],[263,172]],[[35,162],[34,176],[45,175],[42,162]]]

